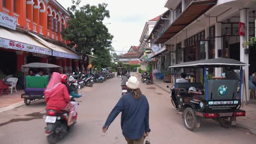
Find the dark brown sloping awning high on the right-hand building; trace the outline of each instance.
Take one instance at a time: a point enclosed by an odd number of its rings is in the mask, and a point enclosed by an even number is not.
[[[201,16],[208,9],[212,8],[217,0],[193,1],[188,7],[177,17],[177,19],[166,29],[166,31],[154,41],[155,44],[165,43],[174,35],[188,26],[191,22]]]

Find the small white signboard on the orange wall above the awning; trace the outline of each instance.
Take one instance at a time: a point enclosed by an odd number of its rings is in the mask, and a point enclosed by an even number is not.
[[[16,22],[17,19],[14,17],[0,12],[0,26],[16,30]]]

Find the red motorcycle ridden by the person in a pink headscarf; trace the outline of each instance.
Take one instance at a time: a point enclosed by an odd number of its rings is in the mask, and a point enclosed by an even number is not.
[[[70,96],[71,101],[75,101],[72,96]],[[48,143],[56,143],[58,140],[62,139],[69,131],[68,122],[68,111],[61,111],[56,107],[46,107],[45,118],[45,136],[47,137]],[[74,116],[75,121],[77,121],[77,113]]]

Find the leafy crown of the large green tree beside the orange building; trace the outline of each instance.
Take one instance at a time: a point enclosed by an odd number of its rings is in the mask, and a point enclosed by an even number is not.
[[[75,51],[82,55],[83,62],[87,61],[86,54],[94,52],[101,56],[98,51],[109,53],[112,50],[113,35],[103,25],[103,20],[109,18],[107,4],[79,6],[81,0],[72,0],[68,8],[70,20],[68,27],[61,32],[64,39],[71,41],[69,46],[75,46]],[[104,53],[103,53],[104,54]],[[110,54],[109,54],[110,55]]]

